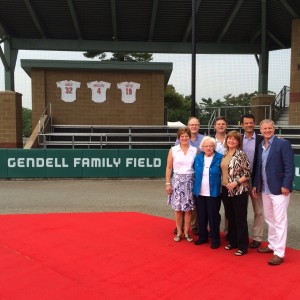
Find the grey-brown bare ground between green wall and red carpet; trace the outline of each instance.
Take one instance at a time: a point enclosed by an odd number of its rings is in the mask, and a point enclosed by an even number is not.
[[[136,211],[174,218],[166,204],[162,179],[0,180],[0,191],[0,214]],[[223,209],[221,213],[223,217]],[[300,250],[299,216],[300,193],[294,192],[289,205],[287,246]],[[251,226],[251,203],[248,221]],[[266,230],[267,226],[265,236]]]

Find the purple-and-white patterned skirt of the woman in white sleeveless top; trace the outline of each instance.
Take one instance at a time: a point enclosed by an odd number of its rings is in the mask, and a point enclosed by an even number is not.
[[[172,194],[168,196],[168,205],[176,211],[194,210],[194,174],[174,174],[171,183]]]

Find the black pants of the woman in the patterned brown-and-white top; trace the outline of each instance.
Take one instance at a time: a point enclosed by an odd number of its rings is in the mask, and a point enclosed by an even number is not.
[[[228,220],[228,241],[234,247],[247,252],[249,233],[247,223],[248,193],[228,197],[228,190],[222,186],[222,201]]]

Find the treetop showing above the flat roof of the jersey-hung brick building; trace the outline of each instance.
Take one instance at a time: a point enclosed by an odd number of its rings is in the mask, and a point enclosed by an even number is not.
[[[144,52],[113,52],[110,58],[107,58],[106,52],[99,51],[87,51],[83,55],[87,58],[98,57],[100,60],[108,61],[150,62],[153,60],[153,54]]]

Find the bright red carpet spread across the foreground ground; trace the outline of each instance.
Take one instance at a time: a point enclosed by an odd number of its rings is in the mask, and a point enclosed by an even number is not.
[[[173,229],[141,213],[1,215],[0,299],[299,299],[299,250],[273,267]]]

